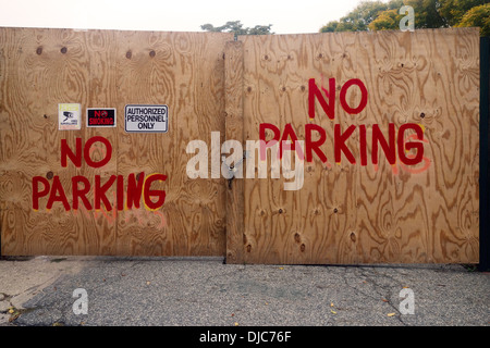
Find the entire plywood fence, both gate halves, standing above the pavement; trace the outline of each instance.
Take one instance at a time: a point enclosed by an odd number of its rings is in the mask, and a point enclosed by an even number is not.
[[[0,28],[1,253],[478,262],[479,64],[474,28],[237,41]],[[86,108],[115,108],[117,126],[58,130],[58,104],[72,102],[84,121]],[[167,104],[169,132],[125,132],[127,104]],[[261,138],[306,142],[293,159],[303,183],[284,189],[294,173],[272,177],[271,158],[267,177],[247,177],[247,167],[258,174],[259,151],[254,163],[250,152],[234,163],[242,178],[189,177],[187,145],[203,140],[210,153],[218,132],[220,145],[243,149]],[[63,141],[72,157],[88,141],[81,165],[70,157],[63,165]],[[128,208],[127,187],[155,173],[167,176],[151,186],[164,203],[149,209],[142,197]],[[50,189],[59,182],[69,209],[59,195],[49,209],[50,194],[34,209],[34,177]],[[94,187],[113,179],[103,192],[112,209],[74,199],[74,177],[91,203],[100,201]]]

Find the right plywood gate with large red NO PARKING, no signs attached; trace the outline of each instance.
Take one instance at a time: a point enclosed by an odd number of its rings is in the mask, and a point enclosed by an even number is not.
[[[478,29],[244,36],[225,54],[226,139],[262,139],[268,161],[258,178],[250,146],[232,182],[229,262],[478,262]]]

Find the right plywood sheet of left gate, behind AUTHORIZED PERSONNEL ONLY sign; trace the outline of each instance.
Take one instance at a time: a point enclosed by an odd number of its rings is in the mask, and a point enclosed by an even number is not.
[[[124,211],[118,219],[118,253],[217,256],[225,250],[224,181],[186,174],[188,141],[210,148],[211,132],[224,139],[222,34],[122,33],[119,37],[119,104],[169,105],[169,132],[127,134],[119,128],[118,173],[162,173],[167,197],[157,211]],[[119,122],[123,123],[122,113]],[[157,188],[157,187],[156,187]]]

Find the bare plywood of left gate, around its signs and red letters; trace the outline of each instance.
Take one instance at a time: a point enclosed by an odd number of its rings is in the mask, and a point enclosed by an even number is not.
[[[224,184],[187,179],[185,145],[224,137],[224,42],[228,34],[0,29],[0,214],[2,254],[223,256]],[[131,54],[127,54],[127,52]],[[57,105],[83,108],[81,130],[58,130]],[[166,103],[171,128],[164,135],[124,133],[124,105]],[[87,128],[85,110],[117,108],[117,128]],[[75,148],[106,137],[112,158],[102,167],[60,164],[60,142]],[[98,161],[107,149],[90,148]],[[64,211],[60,203],[32,209],[33,176],[58,175],[71,201],[71,178],[94,185],[111,175],[164,173],[160,210]],[[52,178],[50,179],[52,183]],[[91,200],[94,187],[87,194]],[[115,202],[115,185],[107,197]]]

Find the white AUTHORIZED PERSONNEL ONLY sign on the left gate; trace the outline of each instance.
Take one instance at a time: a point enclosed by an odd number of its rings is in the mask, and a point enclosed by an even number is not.
[[[167,133],[169,107],[127,104],[124,109],[124,129],[130,133]]]

